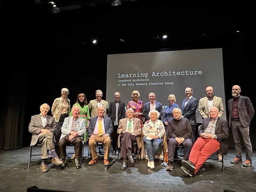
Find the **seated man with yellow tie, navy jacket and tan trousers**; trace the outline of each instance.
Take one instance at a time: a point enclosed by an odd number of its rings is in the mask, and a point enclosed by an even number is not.
[[[96,151],[97,143],[104,143],[105,153],[104,153],[104,165],[109,165],[108,156],[110,151],[111,140],[110,136],[113,131],[112,121],[109,117],[104,117],[105,112],[104,107],[99,107],[97,109],[98,116],[92,117],[90,119],[90,124],[88,127],[89,138],[89,148],[92,153],[92,160],[88,163],[89,165],[96,164],[99,159]]]

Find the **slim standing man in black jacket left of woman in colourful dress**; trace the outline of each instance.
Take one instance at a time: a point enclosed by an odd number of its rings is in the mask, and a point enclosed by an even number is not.
[[[108,108],[108,116],[110,117],[112,121],[112,125],[114,127],[113,132],[111,133],[112,138],[112,146],[113,146],[113,153],[112,155],[118,155],[118,149],[117,149],[117,128],[120,119],[123,119],[125,117],[125,103],[120,101],[121,93],[115,92],[114,96],[116,100],[111,101]]]

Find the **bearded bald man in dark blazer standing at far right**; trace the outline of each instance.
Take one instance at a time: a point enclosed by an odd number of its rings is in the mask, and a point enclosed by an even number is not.
[[[244,141],[246,160],[243,166],[252,165],[252,144],[249,135],[249,126],[254,116],[254,109],[249,97],[240,95],[241,88],[238,85],[232,87],[233,99],[228,101],[229,127],[232,130],[235,143],[236,157],[230,163],[242,163],[242,147],[239,134]]]

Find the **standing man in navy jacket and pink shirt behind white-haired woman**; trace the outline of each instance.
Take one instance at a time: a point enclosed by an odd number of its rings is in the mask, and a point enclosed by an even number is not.
[[[160,113],[158,119],[161,120],[161,116],[163,115],[162,104],[156,101],[155,93],[152,93],[152,92],[149,93],[148,99],[149,99],[149,102],[145,103],[143,106],[143,117],[145,117],[145,121],[148,121],[150,119],[150,117],[148,116],[148,113],[153,109],[157,110]]]

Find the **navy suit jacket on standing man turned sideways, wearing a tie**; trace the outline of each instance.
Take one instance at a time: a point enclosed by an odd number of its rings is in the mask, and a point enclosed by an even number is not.
[[[197,108],[197,99],[191,97],[187,105],[184,107],[186,99],[183,100],[181,105],[181,112],[183,117],[189,120],[190,125],[196,125],[196,108]]]

